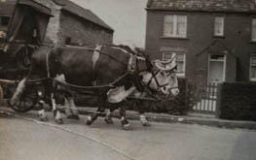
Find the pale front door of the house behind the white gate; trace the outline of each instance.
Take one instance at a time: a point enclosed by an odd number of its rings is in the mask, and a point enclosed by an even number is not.
[[[208,83],[220,83],[225,80],[226,56],[209,54]]]

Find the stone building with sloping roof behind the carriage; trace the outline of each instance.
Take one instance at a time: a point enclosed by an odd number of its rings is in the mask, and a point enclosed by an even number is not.
[[[1,0],[2,6],[9,6],[6,14],[0,16],[12,16],[14,4],[17,0]],[[98,16],[91,13],[69,0],[19,0],[19,3],[33,3],[51,9],[45,43],[56,45],[94,45],[112,44],[114,30]],[[0,28],[1,29],[1,28]],[[5,26],[7,30],[7,25]]]

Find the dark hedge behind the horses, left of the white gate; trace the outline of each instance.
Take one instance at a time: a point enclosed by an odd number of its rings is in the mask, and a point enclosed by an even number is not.
[[[134,100],[128,99],[122,104],[125,105],[128,110],[132,111],[144,111],[144,112],[165,112],[169,114],[186,114],[190,111],[186,100],[187,98],[187,79],[178,79],[180,93],[174,99],[163,99],[161,101],[152,100]],[[95,97],[87,96],[76,100],[76,104],[79,106],[96,106],[97,102]],[[108,104],[110,105],[110,104]],[[117,105],[115,105],[117,106]]]

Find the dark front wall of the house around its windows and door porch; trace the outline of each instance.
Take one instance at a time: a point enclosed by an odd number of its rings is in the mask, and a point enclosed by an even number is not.
[[[185,14],[188,16],[187,39],[163,38],[164,16],[166,14]],[[213,37],[214,16],[225,16],[224,38]],[[228,66],[228,80],[248,80],[249,78],[249,55],[255,52],[256,45],[250,43],[251,38],[251,17],[245,14],[213,14],[213,13],[180,13],[147,11],[147,30],[145,49],[152,58],[162,58],[162,49],[175,50],[182,48],[186,52],[186,77],[191,81],[199,79],[198,73],[204,73],[201,77],[205,81],[207,77],[207,56],[197,59],[196,54],[203,48],[207,48],[214,40],[218,40],[238,57],[237,76],[233,66]],[[227,51],[227,50],[223,50]],[[235,60],[231,60],[232,63]],[[230,63],[230,64],[232,64]],[[236,63],[236,62],[235,62]],[[236,78],[235,78],[236,77]]]

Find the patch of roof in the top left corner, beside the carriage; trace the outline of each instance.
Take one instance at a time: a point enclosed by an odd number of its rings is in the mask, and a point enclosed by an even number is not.
[[[12,16],[16,0],[0,1],[0,16]]]

